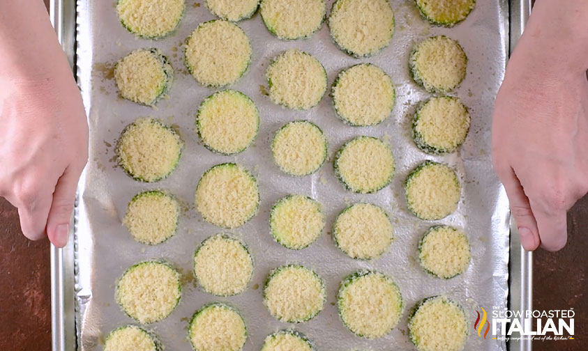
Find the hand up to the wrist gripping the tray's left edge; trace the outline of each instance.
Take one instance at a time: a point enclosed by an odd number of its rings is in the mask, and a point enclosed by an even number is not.
[[[88,158],[73,76],[0,81],[0,121],[0,196],[18,208],[25,236],[63,247]]]

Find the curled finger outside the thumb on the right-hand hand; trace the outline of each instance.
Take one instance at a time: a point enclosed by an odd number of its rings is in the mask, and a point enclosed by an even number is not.
[[[557,206],[546,210],[544,206],[531,201],[531,207],[537,220],[541,247],[547,251],[559,251],[568,241],[568,224],[566,210]]]

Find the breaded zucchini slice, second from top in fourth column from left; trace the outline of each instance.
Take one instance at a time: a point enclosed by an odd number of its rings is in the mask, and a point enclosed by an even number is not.
[[[392,79],[371,63],[342,70],[333,83],[331,94],[337,116],[353,126],[377,125],[390,116],[394,108]]]

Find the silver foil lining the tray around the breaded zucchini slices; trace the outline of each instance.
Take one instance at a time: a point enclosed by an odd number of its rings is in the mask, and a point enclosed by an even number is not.
[[[332,1],[327,1],[329,12]],[[183,65],[183,40],[197,24],[213,19],[201,1],[188,0],[179,29],[163,40],[135,38],[119,24],[115,1],[78,1],[77,65],[84,104],[89,114],[90,159],[80,184],[80,206],[76,247],[77,331],[81,350],[102,350],[105,336],[119,325],[132,323],[114,301],[114,285],[127,267],[140,260],[165,258],[184,276],[183,297],[169,318],[149,325],[168,350],[191,350],[187,338],[190,316],[206,302],[230,302],[246,320],[248,339],[245,350],[259,350],[265,336],[277,329],[295,327],[317,345],[318,350],[414,350],[407,337],[407,313],[420,299],[447,294],[467,310],[472,325],[466,350],[506,350],[502,341],[484,340],[474,333],[476,309],[494,306],[506,309],[508,294],[508,201],[490,164],[490,113],[492,102],[504,75],[507,57],[507,1],[478,1],[467,20],[453,29],[432,27],[419,17],[412,1],[392,0],[395,34],[391,45],[369,59],[354,59],[336,48],[329,29],[322,29],[308,40],[283,42],[262,24],[259,13],[239,22],[253,48],[248,72],[230,86],[254,100],[261,114],[255,145],[236,156],[211,153],[199,145],[193,130],[200,102],[213,93],[199,86]],[[414,42],[435,34],[457,39],[469,62],[467,77],[454,95],[459,96],[472,114],[472,127],[459,153],[432,157],[422,153],[410,138],[410,118],[416,103],[430,96],[409,78],[407,60]],[[155,109],[118,97],[112,79],[112,64],[133,49],[162,49],[176,72],[169,99]],[[276,54],[299,48],[315,56],[326,68],[329,85],[343,68],[370,62],[383,68],[395,83],[396,106],[393,114],[375,127],[349,127],[336,118],[331,98],[325,96],[310,111],[290,111],[273,104],[260,86],[266,84],[266,66]],[[114,145],[125,125],[137,117],[153,116],[179,129],[186,142],[178,169],[156,184],[135,182],[114,162]],[[329,159],[345,141],[358,135],[384,139],[391,145],[396,173],[389,187],[376,194],[345,191],[334,176],[331,162],[312,176],[292,178],[281,173],[271,161],[269,144],[273,133],[290,120],[308,119],[325,132],[329,140]],[[410,214],[402,182],[407,173],[424,159],[453,166],[463,185],[458,210],[442,221],[421,221]],[[241,228],[231,231],[250,247],[255,272],[250,288],[236,297],[218,298],[197,286],[192,274],[193,252],[199,242],[221,228],[207,224],[194,209],[194,191],[202,173],[215,164],[237,162],[259,180],[259,213]],[[146,189],[166,189],[183,203],[179,232],[167,242],[147,247],[135,242],[121,218],[126,204]],[[307,249],[290,251],[273,241],[269,234],[269,209],[278,198],[290,193],[312,196],[324,206],[326,228],[322,237]],[[395,242],[388,253],[375,261],[357,261],[345,256],[329,232],[336,215],[350,203],[369,201],[391,215]],[[416,244],[432,224],[451,224],[465,229],[472,244],[472,264],[465,274],[444,281],[428,276],[416,262]],[[266,274],[283,263],[308,265],[326,281],[327,301],[319,315],[299,325],[273,318],[262,304]],[[393,276],[405,302],[405,313],[398,327],[375,341],[354,336],[338,318],[338,283],[360,268],[372,268]]]

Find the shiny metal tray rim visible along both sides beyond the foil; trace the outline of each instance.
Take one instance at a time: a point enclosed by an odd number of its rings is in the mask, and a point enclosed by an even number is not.
[[[532,0],[510,0],[510,45],[518,40],[529,16]],[[74,0],[50,0],[50,17],[71,65],[75,64],[76,3]],[[74,66],[75,67],[75,66]],[[74,69],[74,72],[76,70]],[[85,172],[80,183],[84,182]],[[51,246],[52,295],[52,350],[77,350],[75,321],[75,246],[77,241],[77,215],[80,203],[76,201],[70,226],[70,240],[63,249]],[[509,268],[509,309],[532,309],[532,253],[520,248],[516,228],[511,220]],[[518,292],[518,293],[517,293]],[[509,350],[532,350],[530,342],[509,342]]]

